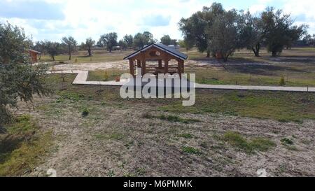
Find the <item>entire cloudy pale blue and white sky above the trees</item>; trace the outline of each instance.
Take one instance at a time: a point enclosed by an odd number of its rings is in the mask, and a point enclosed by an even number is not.
[[[116,31],[118,38],[125,34],[151,31],[155,38],[169,34],[182,38],[177,23],[209,0],[0,0],[0,22],[10,22],[25,29],[34,41],[60,41],[73,36],[78,42],[91,36]],[[266,6],[281,8],[290,13],[296,24],[309,24],[315,34],[314,0],[225,0],[225,9],[237,8],[259,13]]]

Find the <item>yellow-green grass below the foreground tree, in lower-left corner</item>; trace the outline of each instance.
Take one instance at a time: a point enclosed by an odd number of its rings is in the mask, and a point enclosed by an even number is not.
[[[51,132],[40,133],[29,115],[22,115],[0,136],[0,176],[22,176],[45,155],[52,141]]]

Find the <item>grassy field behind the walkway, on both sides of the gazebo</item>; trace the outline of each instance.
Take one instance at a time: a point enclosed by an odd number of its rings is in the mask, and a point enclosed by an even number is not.
[[[281,78],[286,86],[315,87],[315,48],[295,48],[284,50],[283,57],[267,57],[267,52],[262,50],[262,57],[253,57],[251,52],[241,50],[234,57],[217,67],[186,67],[186,73],[196,73],[197,83],[214,85],[272,85],[279,86]],[[121,54],[99,57],[99,59],[121,60]],[[202,64],[216,63],[216,59],[207,59],[204,54],[192,50],[186,52],[190,62],[201,62]],[[102,55],[102,54],[100,54]],[[116,55],[116,56],[114,56]],[[305,55],[307,57],[302,57]],[[295,56],[295,57],[293,57]],[[312,58],[313,57],[313,58]],[[90,71],[88,80],[114,80],[116,76],[128,71],[109,69],[107,71]]]

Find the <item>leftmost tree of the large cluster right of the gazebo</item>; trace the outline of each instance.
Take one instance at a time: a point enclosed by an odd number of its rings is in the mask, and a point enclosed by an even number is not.
[[[202,11],[194,13],[187,19],[182,18],[179,22],[179,29],[183,32],[186,41],[193,42],[200,52],[207,52],[207,57],[210,57],[209,43],[211,36],[208,31],[216,17],[224,13],[221,3],[212,3],[211,7],[204,7]],[[212,52],[215,55],[216,52]]]

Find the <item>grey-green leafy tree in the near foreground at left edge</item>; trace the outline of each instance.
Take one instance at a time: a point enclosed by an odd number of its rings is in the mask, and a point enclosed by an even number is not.
[[[31,41],[23,29],[0,24],[0,128],[10,122],[8,107],[15,107],[17,99],[32,101],[33,94],[48,95],[44,76],[46,67],[31,66]]]

